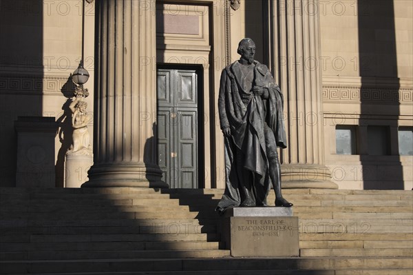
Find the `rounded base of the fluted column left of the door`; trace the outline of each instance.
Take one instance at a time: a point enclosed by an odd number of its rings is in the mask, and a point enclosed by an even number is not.
[[[81,187],[143,187],[169,188],[161,180],[162,171],[155,165],[142,163],[112,163],[93,165],[89,181]]]

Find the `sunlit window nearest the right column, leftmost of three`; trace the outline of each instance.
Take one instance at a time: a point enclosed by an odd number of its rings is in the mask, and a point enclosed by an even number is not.
[[[357,154],[356,126],[336,126],[336,154]]]

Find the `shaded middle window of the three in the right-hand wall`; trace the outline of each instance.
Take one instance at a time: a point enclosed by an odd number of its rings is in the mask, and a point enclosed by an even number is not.
[[[385,156],[390,154],[390,135],[388,126],[368,126],[368,154]]]

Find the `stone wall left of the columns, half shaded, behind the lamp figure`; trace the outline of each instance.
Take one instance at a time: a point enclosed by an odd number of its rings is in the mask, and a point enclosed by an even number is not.
[[[69,78],[81,59],[81,8],[80,0],[0,3],[0,186],[15,185],[18,116],[53,116],[59,121],[56,186],[64,186],[65,151],[72,139],[67,134],[74,90]],[[85,15],[85,68],[90,73],[86,101],[87,111],[93,112],[94,4],[87,4]]]

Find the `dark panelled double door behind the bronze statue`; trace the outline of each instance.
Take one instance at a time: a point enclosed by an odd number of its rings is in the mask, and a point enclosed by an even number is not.
[[[198,77],[158,69],[158,165],[170,188],[198,188]]]

